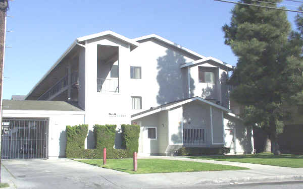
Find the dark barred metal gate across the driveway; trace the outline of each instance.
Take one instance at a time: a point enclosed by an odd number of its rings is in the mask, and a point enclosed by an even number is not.
[[[1,159],[47,159],[48,118],[3,117]]]

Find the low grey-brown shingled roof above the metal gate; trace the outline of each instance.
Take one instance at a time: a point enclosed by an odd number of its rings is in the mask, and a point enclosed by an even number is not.
[[[4,110],[83,111],[65,101],[3,100]]]

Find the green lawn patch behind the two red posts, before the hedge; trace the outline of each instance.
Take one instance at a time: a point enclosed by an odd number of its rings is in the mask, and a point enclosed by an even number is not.
[[[245,167],[219,165],[212,163],[199,163],[164,159],[138,159],[138,170],[135,172],[133,171],[133,159],[108,159],[106,165],[103,165],[102,159],[85,159],[76,161],[99,167],[128,172],[131,174],[248,169]]]

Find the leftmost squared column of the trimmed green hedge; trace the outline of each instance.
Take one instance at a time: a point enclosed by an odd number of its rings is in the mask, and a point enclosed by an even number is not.
[[[79,124],[71,127],[66,126],[66,157],[78,157],[83,158],[84,141],[87,135],[88,125]]]

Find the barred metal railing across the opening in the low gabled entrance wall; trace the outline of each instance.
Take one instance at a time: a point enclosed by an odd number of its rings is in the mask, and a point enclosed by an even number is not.
[[[183,129],[183,145],[200,146],[206,144],[206,129]]]

